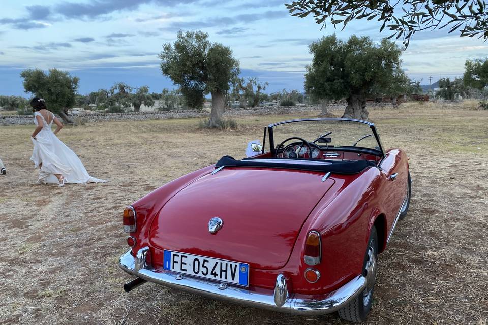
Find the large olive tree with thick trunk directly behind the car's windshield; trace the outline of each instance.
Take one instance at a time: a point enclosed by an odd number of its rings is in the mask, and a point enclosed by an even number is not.
[[[347,42],[335,35],[310,46],[312,64],[306,67],[305,89],[320,100],[346,98],[344,118],[368,120],[368,95],[387,93],[401,72],[400,48],[383,39],[351,36]]]

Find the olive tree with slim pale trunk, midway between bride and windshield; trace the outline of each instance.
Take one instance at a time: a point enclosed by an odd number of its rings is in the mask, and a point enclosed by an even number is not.
[[[216,127],[225,108],[225,94],[237,78],[239,62],[232,50],[208,40],[202,31],[179,31],[174,44],[165,43],[159,54],[163,75],[179,85],[188,105],[200,108],[212,96],[209,126]]]

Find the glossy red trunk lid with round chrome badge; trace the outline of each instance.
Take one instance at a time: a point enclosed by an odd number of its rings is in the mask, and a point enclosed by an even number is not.
[[[159,212],[150,242],[159,249],[283,267],[303,222],[334,183],[323,173],[224,168],[178,192]],[[212,217],[222,229],[210,234]]]

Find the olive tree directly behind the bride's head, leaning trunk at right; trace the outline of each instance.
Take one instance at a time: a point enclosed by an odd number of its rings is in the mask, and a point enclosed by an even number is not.
[[[24,78],[25,92],[43,98],[46,105],[66,123],[73,123],[68,110],[73,107],[78,89],[78,77],[72,77],[67,71],[49,69],[26,69],[20,73]]]

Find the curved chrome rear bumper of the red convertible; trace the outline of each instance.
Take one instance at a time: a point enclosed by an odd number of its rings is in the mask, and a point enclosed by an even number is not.
[[[120,268],[144,280],[189,291],[240,305],[270,309],[300,315],[320,315],[337,311],[347,305],[366,287],[366,279],[357,276],[339,289],[323,295],[304,298],[288,291],[287,279],[279,274],[275,290],[262,288],[239,288],[204,279],[166,271],[155,270],[146,263],[148,247],[141,248],[136,258],[130,251],[120,257]]]

